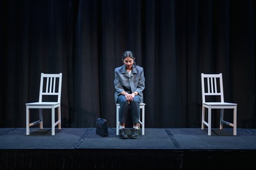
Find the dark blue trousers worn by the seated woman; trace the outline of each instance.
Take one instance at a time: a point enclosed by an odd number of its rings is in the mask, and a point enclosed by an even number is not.
[[[139,103],[141,103],[141,97],[135,96],[133,98],[133,101],[130,101],[130,105],[129,105],[128,101],[126,100],[126,97],[124,97],[124,95],[119,95],[117,99],[117,103],[120,104],[120,110],[119,110],[120,124],[123,124],[126,122],[126,117],[128,115],[129,108],[131,109],[133,124],[137,124],[139,122],[139,116],[140,116]]]

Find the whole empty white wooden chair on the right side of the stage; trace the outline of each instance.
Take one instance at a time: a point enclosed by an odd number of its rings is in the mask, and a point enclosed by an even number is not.
[[[204,129],[204,125],[208,126],[208,135],[211,135],[212,109],[221,109],[220,129],[223,129],[223,123],[233,126],[233,135],[236,135],[237,103],[227,103],[224,101],[222,73],[201,73],[201,88],[203,99],[201,129]],[[214,98],[219,98],[220,100],[218,102],[207,102],[205,98],[209,96],[216,96]],[[208,122],[205,121],[205,108],[208,109]],[[223,120],[224,109],[233,109],[233,123]]]

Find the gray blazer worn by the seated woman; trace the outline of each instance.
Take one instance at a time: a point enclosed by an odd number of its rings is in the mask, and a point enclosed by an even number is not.
[[[143,67],[138,65],[132,66],[132,73],[129,76],[126,72],[126,65],[115,68],[115,103],[117,98],[121,95],[122,91],[132,93],[137,91],[141,97],[141,103],[143,103],[143,90],[145,88],[145,78]]]

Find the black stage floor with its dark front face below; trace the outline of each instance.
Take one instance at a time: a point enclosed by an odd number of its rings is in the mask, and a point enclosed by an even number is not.
[[[140,130],[141,131],[141,130]],[[95,128],[0,129],[0,169],[256,169],[256,129],[145,129],[138,139]]]

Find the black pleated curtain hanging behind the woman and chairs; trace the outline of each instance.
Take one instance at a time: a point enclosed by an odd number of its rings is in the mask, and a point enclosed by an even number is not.
[[[238,103],[238,128],[256,128],[254,0],[0,6],[1,128],[25,127],[25,103],[38,101],[42,72],[63,73],[62,127],[94,127],[98,117],[115,127],[114,69],[125,50],[145,71],[146,128],[200,128],[201,73],[223,73],[225,101]]]

